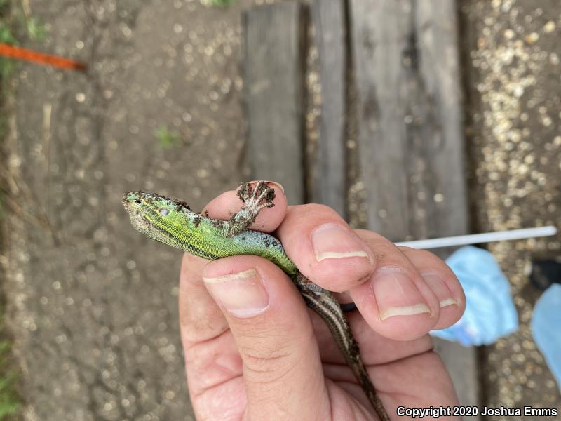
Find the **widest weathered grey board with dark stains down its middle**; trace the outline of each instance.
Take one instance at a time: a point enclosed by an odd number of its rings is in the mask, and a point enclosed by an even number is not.
[[[394,241],[465,234],[455,2],[349,6],[369,228]],[[438,341],[438,351],[461,404],[477,405],[475,349]]]

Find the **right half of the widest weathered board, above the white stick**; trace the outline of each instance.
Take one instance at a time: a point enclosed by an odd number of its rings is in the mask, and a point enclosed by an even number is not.
[[[428,236],[468,232],[464,171],[457,9],[455,1],[416,1],[414,29],[419,55],[419,84],[430,105],[425,126],[426,171],[431,174]]]

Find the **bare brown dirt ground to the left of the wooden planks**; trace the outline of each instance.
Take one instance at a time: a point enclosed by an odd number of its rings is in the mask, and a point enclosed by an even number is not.
[[[202,208],[236,187],[245,126],[240,11],[198,1],[30,1],[43,50],[23,64],[8,148],[8,312],[27,420],[190,420],[177,321],[181,253],[131,229],[126,190]],[[154,134],[177,131],[164,147]],[[48,221],[48,223],[46,222]]]

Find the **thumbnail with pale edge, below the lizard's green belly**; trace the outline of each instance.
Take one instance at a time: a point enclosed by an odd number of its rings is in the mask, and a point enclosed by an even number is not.
[[[203,281],[212,297],[234,316],[247,319],[269,306],[269,294],[255,269]]]

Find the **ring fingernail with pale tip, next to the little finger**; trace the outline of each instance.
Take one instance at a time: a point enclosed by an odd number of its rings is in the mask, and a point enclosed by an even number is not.
[[[372,290],[381,320],[393,316],[431,313],[413,281],[397,267],[378,269],[372,279]]]

